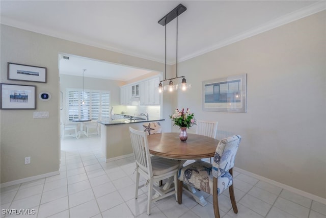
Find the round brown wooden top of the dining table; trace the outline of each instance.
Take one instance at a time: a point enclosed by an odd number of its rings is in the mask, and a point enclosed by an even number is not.
[[[192,160],[214,157],[219,140],[197,134],[189,134],[181,141],[179,133],[169,132],[147,136],[152,155],[177,160]]]

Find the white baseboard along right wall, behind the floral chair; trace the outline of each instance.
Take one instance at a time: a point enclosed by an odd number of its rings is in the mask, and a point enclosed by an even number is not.
[[[315,195],[312,195],[311,193],[308,193],[306,191],[302,191],[300,189],[296,189],[296,188],[293,188],[289,185],[285,185],[283,183],[280,183],[280,182],[277,182],[277,181],[274,181],[274,180],[271,180],[271,179],[267,179],[265,177],[262,177],[262,176],[259,176],[257,174],[254,174],[254,173],[251,173],[251,172],[248,172],[248,171],[245,171],[244,169],[240,169],[238,167],[234,167],[235,171],[239,172],[239,173],[242,173],[242,174],[245,174],[247,176],[251,176],[251,177],[254,177],[256,179],[259,179],[261,181],[264,181],[264,182],[268,182],[272,185],[275,185],[275,186],[278,186],[280,188],[283,188],[283,189],[286,189],[288,191],[291,191],[293,193],[296,193],[297,195],[301,195],[301,196],[305,196],[313,201],[317,201],[321,204],[326,204],[326,199],[324,198],[321,198],[319,196],[315,196]]]

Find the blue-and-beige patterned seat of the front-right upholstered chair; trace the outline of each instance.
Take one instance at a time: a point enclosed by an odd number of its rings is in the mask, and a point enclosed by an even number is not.
[[[178,179],[186,185],[191,185],[197,189],[213,195],[213,175],[212,164],[205,161],[196,161],[179,169]],[[218,178],[218,195],[233,183],[233,178],[229,172],[225,172]]]

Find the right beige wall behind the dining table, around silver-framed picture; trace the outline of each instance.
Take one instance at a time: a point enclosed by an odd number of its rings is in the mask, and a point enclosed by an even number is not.
[[[236,167],[326,198],[326,11],[178,64],[197,119],[240,134]],[[247,74],[247,113],[202,111],[202,81]],[[199,79],[200,78],[200,79]],[[191,131],[195,131],[193,128]]]

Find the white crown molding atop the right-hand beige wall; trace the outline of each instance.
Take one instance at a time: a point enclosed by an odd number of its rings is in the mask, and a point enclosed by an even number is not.
[[[293,22],[295,20],[298,20],[298,19],[307,17],[309,15],[318,13],[318,12],[323,11],[325,9],[326,9],[326,1],[319,1],[319,2],[317,2],[315,4],[307,6],[306,8],[294,11],[294,12],[292,12],[290,14],[287,14],[285,16],[282,16],[282,17],[279,17],[279,18],[277,18],[275,20],[267,22],[267,23],[265,23],[264,25],[262,25],[260,27],[257,27],[255,29],[243,32],[243,33],[241,33],[239,35],[235,35],[233,37],[230,37],[230,38],[228,38],[228,39],[226,39],[224,41],[221,41],[218,44],[215,44],[212,47],[207,47],[206,49],[203,49],[203,50],[201,50],[201,51],[199,51],[197,53],[193,53],[191,55],[180,58],[179,62],[182,62],[182,61],[185,61],[185,60],[188,60],[188,59],[191,59],[191,58],[195,58],[197,56],[203,55],[205,53],[211,52],[211,51],[216,50],[216,49],[220,49],[221,47],[224,47],[224,46],[227,46],[229,44],[241,41],[243,39],[255,36],[257,34],[266,32],[268,30],[271,30],[271,29],[286,25],[287,23],[290,23],[290,22]]]

